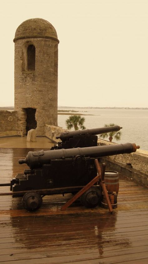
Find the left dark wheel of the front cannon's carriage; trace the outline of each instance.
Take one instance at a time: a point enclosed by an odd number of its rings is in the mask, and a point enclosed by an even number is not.
[[[29,191],[22,198],[22,205],[27,211],[35,211],[42,205],[42,197],[34,191]]]

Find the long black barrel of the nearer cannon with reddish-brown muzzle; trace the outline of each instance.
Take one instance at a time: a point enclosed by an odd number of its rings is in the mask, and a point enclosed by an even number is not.
[[[77,155],[91,158],[99,158],[117,154],[135,152],[139,146],[135,143],[114,144],[108,146],[87,147],[87,148],[69,148],[47,151],[29,151],[25,159],[19,159],[19,164],[27,163],[33,168],[41,168],[43,164],[49,164],[52,159],[72,158]]]

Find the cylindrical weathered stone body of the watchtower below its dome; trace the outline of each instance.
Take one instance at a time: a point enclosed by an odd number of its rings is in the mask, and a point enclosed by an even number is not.
[[[55,41],[35,39],[36,70],[23,71],[22,46],[30,41],[17,40],[15,43],[15,110],[23,119],[18,119],[20,134],[26,134],[25,108],[36,108],[37,135],[44,134],[46,123],[57,125],[57,75],[54,74]],[[24,122],[22,122],[24,120]],[[21,121],[21,122],[20,122]]]

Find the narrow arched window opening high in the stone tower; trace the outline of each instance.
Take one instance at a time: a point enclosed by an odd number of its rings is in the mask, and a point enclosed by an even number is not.
[[[29,45],[27,48],[27,70],[35,70],[36,64],[36,48],[34,45]]]

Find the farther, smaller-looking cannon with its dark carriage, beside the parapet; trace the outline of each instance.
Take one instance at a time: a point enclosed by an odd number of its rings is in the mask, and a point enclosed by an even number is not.
[[[61,139],[62,142],[58,142],[55,144],[51,150],[53,149],[61,149],[61,148],[86,148],[86,147],[94,147],[97,146],[97,135],[119,131],[122,127],[120,126],[111,126],[111,127],[100,127],[100,128],[92,128],[92,129],[84,129],[84,130],[74,130],[74,131],[65,131],[60,133],[57,136],[57,139]]]

